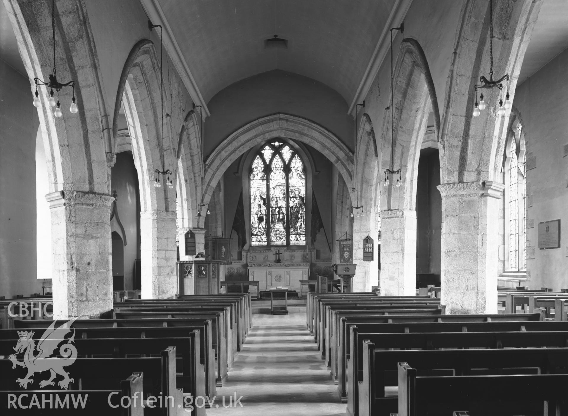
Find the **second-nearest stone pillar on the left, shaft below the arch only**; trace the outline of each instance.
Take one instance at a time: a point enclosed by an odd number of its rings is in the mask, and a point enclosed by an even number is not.
[[[169,299],[178,293],[176,232],[176,211],[140,213],[144,299]]]

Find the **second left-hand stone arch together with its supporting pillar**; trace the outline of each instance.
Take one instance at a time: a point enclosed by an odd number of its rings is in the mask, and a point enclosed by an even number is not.
[[[122,106],[140,185],[141,292],[144,298],[170,298],[177,293],[176,189],[169,189],[162,175],[158,175],[160,188],[154,186],[156,169],[169,169],[173,172],[172,182],[177,183],[177,159],[169,118],[164,122],[162,138],[162,117],[166,118],[166,114],[161,114],[163,93],[154,44],[148,39],[140,40],[123,66],[112,131],[116,138]],[[164,100],[164,113],[168,113],[167,104]]]

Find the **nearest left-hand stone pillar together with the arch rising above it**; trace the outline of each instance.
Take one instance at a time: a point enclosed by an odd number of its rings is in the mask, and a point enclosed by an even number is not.
[[[47,80],[53,73],[52,27],[45,24],[52,2],[7,0],[4,5],[33,97],[34,78]],[[110,134],[85,3],[69,0],[55,7],[57,77],[76,82],[79,111],[69,113],[73,91],[64,88],[59,92],[63,115],[56,119],[47,88],[39,87],[42,105],[37,112],[52,218],[53,313],[57,318],[98,317],[112,309]]]

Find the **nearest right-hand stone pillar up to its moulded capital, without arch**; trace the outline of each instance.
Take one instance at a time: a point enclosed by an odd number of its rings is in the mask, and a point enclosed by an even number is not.
[[[492,181],[441,184],[442,305],[448,314],[497,313],[499,198]]]

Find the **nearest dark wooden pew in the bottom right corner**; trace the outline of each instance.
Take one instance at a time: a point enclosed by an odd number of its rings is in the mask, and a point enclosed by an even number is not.
[[[563,415],[568,411],[566,374],[448,377],[417,376],[407,363],[400,363],[398,369],[399,416],[448,415],[463,408],[473,415],[528,416],[543,414],[543,409]]]

